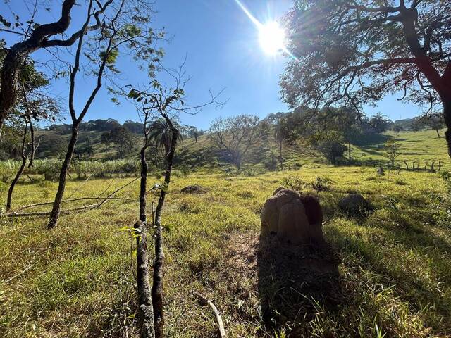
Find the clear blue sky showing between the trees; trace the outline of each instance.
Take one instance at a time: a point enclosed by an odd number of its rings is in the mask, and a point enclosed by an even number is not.
[[[25,0],[29,1],[29,0]],[[154,0],[152,0],[154,1]],[[61,1],[59,1],[61,2]],[[211,120],[230,115],[251,114],[264,118],[269,113],[287,112],[289,107],[280,100],[278,79],[288,61],[282,54],[269,55],[259,43],[259,30],[237,5],[235,0],[156,0],[156,13],[152,22],[155,28],[163,29],[168,42],[160,46],[165,50],[163,63],[166,68],[177,68],[185,61],[185,73],[190,77],[185,92],[187,104],[193,106],[209,101],[209,90],[223,93],[221,101],[227,101],[222,108],[208,106],[196,115],[180,113],[180,121],[186,125],[208,129]],[[292,5],[292,0],[242,0],[248,11],[261,23],[278,20]],[[58,1],[54,1],[58,3]],[[57,11],[39,11],[37,21],[49,22],[58,18]],[[1,1],[0,13],[11,17],[16,13],[26,20],[30,14],[23,0]],[[71,27],[80,27],[85,13],[81,6],[73,11]],[[0,32],[8,44],[16,42],[18,36]],[[34,58],[48,58],[46,51],[32,54]],[[147,82],[145,72],[130,66],[130,60],[120,59],[121,80],[126,83]],[[49,89],[51,94],[67,98],[68,82],[56,80]],[[92,90],[92,82],[80,77],[76,106],[80,107]],[[387,96],[377,107],[365,106],[367,115],[381,112],[392,120],[412,118],[419,115],[418,106],[404,104],[397,100],[402,94]],[[64,100],[63,100],[64,101]],[[67,111],[67,110],[66,110]],[[70,122],[65,113],[65,123]],[[114,118],[139,120],[134,106],[122,101],[120,106],[111,102],[111,96],[103,87],[87,113],[85,120]]]

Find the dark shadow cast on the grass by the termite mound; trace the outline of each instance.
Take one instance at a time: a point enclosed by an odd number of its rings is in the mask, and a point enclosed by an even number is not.
[[[261,315],[268,330],[290,327],[299,337],[318,306],[334,311],[342,301],[338,258],[329,244],[300,246],[260,236],[257,250]]]

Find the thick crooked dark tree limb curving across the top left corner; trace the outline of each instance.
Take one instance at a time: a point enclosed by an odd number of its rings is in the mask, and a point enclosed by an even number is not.
[[[104,13],[106,8],[113,2],[113,0],[106,1],[103,6],[99,6],[97,11],[94,13],[89,13],[90,17],[95,18],[93,25],[83,25],[80,30],[75,31],[67,39],[51,39],[56,35],[63,35],[68,29],[71,18],[70,12],[75,5],[75,0],[64,0],[61,4],[61,17],[54,23],[47,23],[43,25],[35,25],[33,20],[28,23],[27,30],[23,33],[18,33],[23,37],[23,40],[13,44],[11,48],[8,49],[4,62],[1,66],[1,89],[0,89],[0,137],[1,128],[4,125],[4,121],[8,116],[8,113],[13,109],[14,104],[16,104],[16,99],[18,97],[18,77],[20,73],[20,68],[27,60],[28,56],[39,49],[48,49],[51,47],[68,47],[84,35],[88,31],[98,30],[101,27],[101,20],[99,16]],[[97,4],[100,5],[98,1]],[[91,9],[92,6],[89,6]],[[34,17],[36,13],[33,13]],[[2,17],[1,25],[6,28],[2,29],[6,32],[13,32],[8,30],[12,23]],[[21,25],[21,23],[18,23]],[[33,28],[34,25],[34,28]],[[14,25],[13,25],[14,26]]]

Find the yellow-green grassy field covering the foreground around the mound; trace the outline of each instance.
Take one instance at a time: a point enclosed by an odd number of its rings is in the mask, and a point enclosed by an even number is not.
[[[412,142],[416,149],[419,143]],[[441,177],[302,164],[252,177],[204,169],[173,178],[163,213],[166,337],[217,337],[214,316],[193,291],[214,301],[229,337],[450,337],[451,228],[440,223]],[[283,182],[316,177],[331,180],[330,192],[320,195],[338,265],[330,299],[312,292],[319,280],[284,290],[277,276],[264,275],[257,252],[264,201]],[[97,196],[130,180],[70,180],[66,196]],[[204,194],[180,193],[188,184],[200,184]],[[117,196],[136,199],[138,185]],[[4,203],[7,186],[0,189]],[[19,184],[13,210],[50,201],[55,192],[53,182]],[[342,215],[338,199],[348,192],[363,194],[374,213]],[[2,218],[0,336],[135,337],[134,242],[122,229],[137,213],[137,202],[110,201],[63,215],[51,231],[45,218]],[[261,287],[264,278],[272,282]],[[280,303],[285,292],[292,297]]]

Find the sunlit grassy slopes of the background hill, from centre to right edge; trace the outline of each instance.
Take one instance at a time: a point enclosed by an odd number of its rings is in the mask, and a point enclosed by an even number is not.
[[[352,159],[357,161],[357,163],[382,161],[385,165],[388,163],[388,158],[385,157],[384,144],[390,138],[395,138],[394,132],[374,134],[362,139],[361,144],[352,144]],[[400,155],[396,158],[395,163],[401,168],[406,168],[404,160],[407,161],[409,168],[412,168],[414,161],[416,161],[415,167],[418,165],[419,168],[423,169],[426,163],[431,165],[432,162],[435,162],[435,169],[437,169],[439,161],[443,165],[442,168],[451,168],[443,131],[440,137],[437,136],[435,130],[400,132],[398,142],[400,143]],[[273,139],[273,136],[269,135],[268,139],[249,150],[245,162],[264,168],[265,164],[271,161],[273,154],[276,162],[278,162],[278,144]],[[345,157],[347,158],[347,151]],[[321,154],[318,154],[311,146],[302,142],[297,142],[293,145],[285,144],[283,146],[283,158],[285,164],[291,168],[296,163],[301,165],[326,163]],[[342,162],[346,161],[346,159],[342,160]],[[187,163],[193,168],[230,167],[207,135],[199,137],[197,142],[194,142],[194,139],[186,139],[180,146],[180,151],[178,151],[178,163]]]

